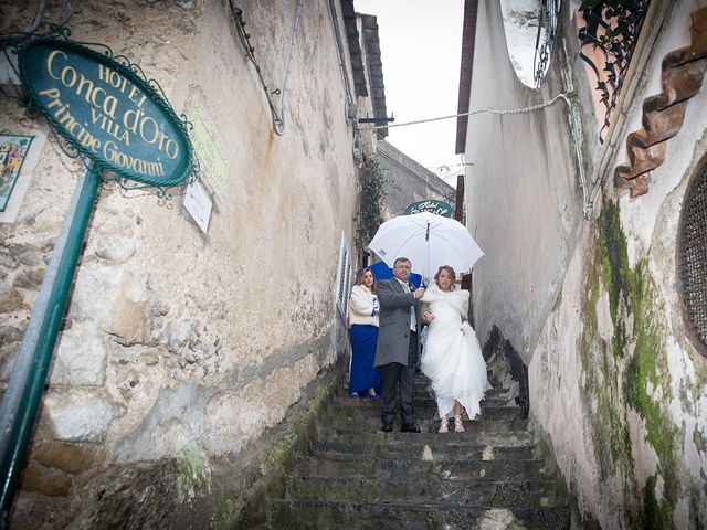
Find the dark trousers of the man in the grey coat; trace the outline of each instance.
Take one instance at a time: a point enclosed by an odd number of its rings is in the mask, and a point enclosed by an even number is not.
[[[414,423],[412,415],[412,391],[418,369],[418,333],[410,331],[408,348],[408,365],[398,362],[383,364],[383,394],[381,395],[382,420],[384,425],[392,425],[395,417],[395,393],[400,382],[400,413],[403,425]]]

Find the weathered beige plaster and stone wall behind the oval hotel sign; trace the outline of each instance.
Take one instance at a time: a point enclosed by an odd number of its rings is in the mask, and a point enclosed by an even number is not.
[[[59,18],[55,3],[48,19]],[[243,458],[334,362],[342,337],[335,279],[341,234],[352,237],[357,170],[328,2],[303,2],[282,137],[228,2],[73,3],[72,38],[127,55],[178,114],[199,107],[230,170],[214,187],[205,236],[180,197],[160,204],[150,193],[102,189],[15,502],[18,528],[91,510],[106,465],[196,458],[208,483],[209,460]],[[278,87],[294,4],[239,7],[265,82]],[[14,29],[33,14],[3,11]],[[4,132],[45,129],[17,102],[1,108]],[[3,381],[78,173],[49,141],[19,221],[0,225]],[[93,489],[80,492],[84,484]]]

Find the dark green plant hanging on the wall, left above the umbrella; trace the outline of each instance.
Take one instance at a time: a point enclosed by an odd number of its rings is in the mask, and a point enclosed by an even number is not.
[[[361,251],[373,239],[383,222],[383,170],[376,159],[367,158],[360,172],[359,210],[356,223],[356,246]]]

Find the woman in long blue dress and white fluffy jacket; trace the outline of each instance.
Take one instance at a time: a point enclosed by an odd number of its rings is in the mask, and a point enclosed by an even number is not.
[[[349,394],[378,398],[382,391],[382,375],[373,368],[378,342],[378,295],[373,272],[363,268],[356,277],[349,301],[351,365]]]

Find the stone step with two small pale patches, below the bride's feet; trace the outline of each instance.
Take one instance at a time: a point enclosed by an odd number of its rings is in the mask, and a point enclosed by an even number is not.
[[[409,434],[414,437],[416,435]],[[366,442],[316,441],[309,444],[309,456],[328,459],[399,458],[407,460],[508,460],[532,458],[532,446],[489,446],[483,444],[455,444],[389,439],[384,444]]]

